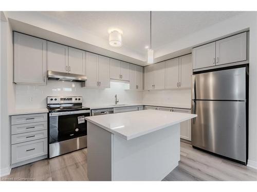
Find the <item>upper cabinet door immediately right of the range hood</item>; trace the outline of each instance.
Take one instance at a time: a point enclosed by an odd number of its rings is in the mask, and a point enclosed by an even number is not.
[[[86,52],[86,87],[98,87],[98,55]]]

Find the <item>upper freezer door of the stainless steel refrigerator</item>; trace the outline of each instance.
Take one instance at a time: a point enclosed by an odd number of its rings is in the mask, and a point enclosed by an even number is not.
[[[193,75],[192,99],[246,100],[246,68]]]

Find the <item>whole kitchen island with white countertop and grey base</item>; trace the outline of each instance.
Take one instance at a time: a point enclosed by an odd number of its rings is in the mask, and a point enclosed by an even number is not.
[[[180,160],[180,122],[197,115],[143,110],[86,117],[91,181],[160,181]]]

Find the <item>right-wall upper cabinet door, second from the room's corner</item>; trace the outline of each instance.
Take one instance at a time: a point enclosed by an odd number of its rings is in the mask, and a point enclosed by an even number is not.
[[[154,64],[154,89],[165,88],[165,62]]]

